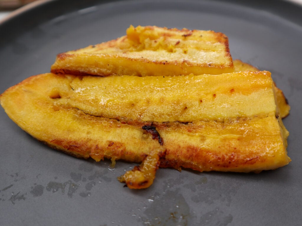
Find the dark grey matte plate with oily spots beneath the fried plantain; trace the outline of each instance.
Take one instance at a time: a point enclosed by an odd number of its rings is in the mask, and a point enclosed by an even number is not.
[[[244,2],[244,3],[243,3]],[[0,109],[0,225],[301,225],[302,8],[279,1],[45,1],[0,24],[0,93],[50,70],[59,52],[133,24],[226,33],[233,58],[272,72],[291,104],[292,162],[260,174],[160,169],[152,187],[39,143]]]

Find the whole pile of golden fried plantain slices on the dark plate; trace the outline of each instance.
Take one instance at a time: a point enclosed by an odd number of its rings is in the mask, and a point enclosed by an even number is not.
[[[23,130],[96,161],[141,163],[119,177],[149,187],[159,167],[260,172],[287,165],[290,106],[269,71],[232,59],[214,31],[130,26],[126,36],[61,53],[51,73],[0,101]]]

